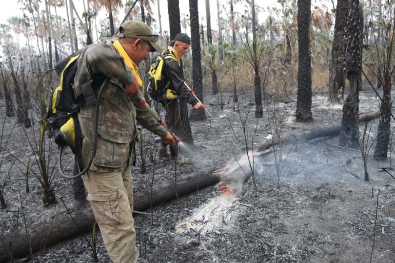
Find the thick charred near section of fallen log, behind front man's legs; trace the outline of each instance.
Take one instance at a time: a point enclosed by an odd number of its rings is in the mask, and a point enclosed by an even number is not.
[[[145,210],[166,201],[172,200],[196,190],[214,185],[220,181],[220,177],[213,175],[212,171],[207,173],[196,172],[177,179],[175,189],[174,179],[155,185],[152,188],[144,189],[134,193],[134,209]],[[203,174],[202,174],[203,173]],[[52,221],[40,222],[25,229],[12,231],[0,236],[0,262],[21,258],[29,255],[29,248],[32,252],[42,250],[67,238],[72,238],[81,233],[89,231],[95,221],[92,210],[85,209],[72,213],[78,227],[71,219],[70,215],[59,216]],[[29,243],[30,241],[30,243]]]

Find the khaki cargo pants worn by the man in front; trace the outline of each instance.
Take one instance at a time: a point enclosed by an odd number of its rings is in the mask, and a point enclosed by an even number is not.
[[[83,175],[87,199],[102,233],[104,245],[113,263],[135,263],[133,181],[130,167],[121,173],[89,171]]]

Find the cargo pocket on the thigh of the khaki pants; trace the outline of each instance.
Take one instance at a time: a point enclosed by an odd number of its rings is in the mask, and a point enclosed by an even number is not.
[[[118,190],[88,194],[87,199],[91,201],[91,207],[98,224],[118,225],[125,222],[119,204],[121,197]]]

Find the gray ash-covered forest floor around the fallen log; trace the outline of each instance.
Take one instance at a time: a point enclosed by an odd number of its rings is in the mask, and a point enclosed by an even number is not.
[[[223,96],[230,94],[224,93]],[[270,133],[267,111],[259,119],[252,142],[256,125],[254,105],[250,105],[249,93],[239,94],[239,99],[242,119],[250,110],[246,122],[248,142],[259,144]],[[340,124],[341,107],[326,106],[325,100],[324,95],[313,96],[312,124],[298,124],[293,121],[295,96],[287,98],[286,103],[280,97],[270,97],[267,101],[264,100],[264,106],[268,103],[270,122],[273,122],[275,108],[284,131],[296,133]],[[215,104],[219,99],[206,96],[205,101],[208,105]],[[377,110],[378,103],[378,99],[374,98],[368,88],[361,92],[360,112]],[[235,134],[240,140],[244,140],[239,113],[232,110],[231,104],[225,105],[224,111],[215,106],[208,106],[208,109],[225,132],[210,119],[192,122],[195,146],[201,152],[201,159],[196,160],[194,165],[178,165],[177,176],[203,171],[205,166],[216,165],[222,168],[228,161],[234,161],[233,153],[237,158],[245,155],[244,146],[234,137]],[[2,116],[4,111],[2,105]],[[13,118],[7,119],[6,133],[11,131],[14,122]],[[377,123],[376,120],[371,129],[372,142],[376,137]],[[15,129],[19,130],[18,127]],[[362,160],[358,158],[360,153],[331,146],[337,145],[337,140],[337,137],[320,138],[298,143],[297,150],[292,148],[280,175],[279,189],[273,155],[264,155],[265,160],[256,157],[259,160],[257,191],[253,190],[250,181],[243,186],[242,194],[235,196],[235,201],[227,207],[228,212],[234,215],[234,220],[225,221],[224,224],[229,224],[226,227],[216,227],[204,234],[193,230],[176,231],[181,222],[193,218],[202,207],[221,194],[216,186],[201,189],[181,197],[180,200],[145,211],[152,213],[151,215],[136,215],[135,227],[140,257],[154,263],[367,262],[370,260],[373,242],[377,193],[381,189],[372,261],[392,262],[395,259],[395,184],[389,175],[379,172],[381,167],[391,166],[390,159],[378,162],[370,157],[370,181],[356,179],[344,169],[344,164],[347,158],[355,157],[350,169],[362,178]],[[12,136],[9,145],[17,155],[24,156],[27,142],[21,132]],[[284,151],[288,152],[289,149],[289,146],[285,147]],[[54,148],[54,155],[56,152]],[[71,163],[71,154],[66,158],[69,158],[64,161],[67,166]],[[150,187],[154,168],[154,183],[174,178],[174,164],[159,160],[153,166],[152,161],[148,160],[146,174],[140,174],[139,167],[132,169],[135,191]],[[37,169],[37,166],[32,169]],[[71,166],[67,169],[71,169]],[[0,182],[4,180],[4,194],[9,207],[0,213],[2,234],[15,228],[23,228],[18,187],[22,190],[28,225],[39,221],[48,221],[50,224],[51,218],[66,213],[60,201],[49,208],[41,206],[42,190],[32,176],[29,179],[31,192],[25,193],[22,187],[25,179],[21,171],[11,168],[7,162],[0,171]],[[63,197],[69,205],[72,200],[71,181],[56,177],[54,183],[56,197]],[[90,234],[85,235],[89,238]],[[93,262],[91,253],[84,238],[77,237],[44,248],[34,255],[34,261]],[[98,262],[109,262],[103,246],[98,252]]]

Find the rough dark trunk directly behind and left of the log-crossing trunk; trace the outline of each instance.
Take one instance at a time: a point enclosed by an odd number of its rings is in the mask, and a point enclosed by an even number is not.
[[[338,104],[343,99],[346,63],[346,24],[348,15],[348,0],[338,0],[334,23],[332,58],[329,67],[329,102]]]

